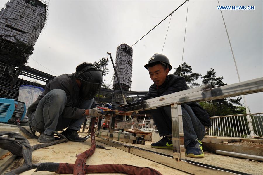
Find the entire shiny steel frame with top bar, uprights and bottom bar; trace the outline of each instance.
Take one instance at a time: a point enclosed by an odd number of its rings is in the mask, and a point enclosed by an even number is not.
[[[179,133],[179,131],[183,131],[183,129],[180,128],[183,126],[181,104],[222,99],[257,92],[263,92],[263,77],[216,88],[211,88],[211,85],[204,85],[115,108],[116,111],[124,111],[125,113],[138,113],[139,111],[171,106],[173,141],[172,156],[113,141],[115,114],[111,114],[110,117],[108,138],[97,138],[97,140],[134,155],[138,155],[191,174],[246,174],[230,169],[215,167],[209,164],[199,163],[197,161],[190,161],[185,158],[184,141],[182,140],[184,137],[183,133]],[[100,130],[101,119],[102,116],[99,117],[98,131]]]

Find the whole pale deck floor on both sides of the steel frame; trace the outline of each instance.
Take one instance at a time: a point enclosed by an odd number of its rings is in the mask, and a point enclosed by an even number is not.
[[[15,127],[14,127],[15,128]],[[6,129],[4,126],[1,126],[1,131],[5,131]],[[15,128],[16,129],[16,128]],[[23,134],[23,133],[22,133]],[[86,136],[86,133],[79,133],[79,135]],[[28,139],[31,145],[39,144],[37,139]],[[120,142],[126,145],[132,145],[135,147],[144,148],[147,150],[152,150],[155,152],[159,152],[166,155],[172,155],[172,150],[167,149],[155,149],[151,148],[150,141],[145,141],[145,145],[140,144],[131,144],[126,142]],[[170,174],[187,174],[183,171],[159,164],[158,162],[153,162],[151,160],[133,155],[131,153],[122,151],[115,147],[111,147],[109,145],[103,144],[96,140],[97,145],[103,145],[107,149],[96,149],[94,154],[87,159],[87,165],[97,165],[97,164],[130,164],[139,167],[151,167],[158,170],[160,173],[164,175]],[[68,141],[67,143],[60,143],[58,145],[52,145],[49,147],[41,148],[38,150],[33,151],[32,155],[32,162],[33,163],[40,163],[40,162],[56,162],[56,163],[75,163],[76,155],[79,153],[88,150],[91,147],[91,139],[88,139],[85,142],[71,142]],[[0,159],[0,166],[9,158],[12,154],[4,157],[2,160]],[[226,169],[232,169],[235,171],[240,171],[243,173],[248,174],[262,174],[263,172],[263,162],[257,162],[252,160],[246,159],[239,159],[234,157],[228,157],[223,155],[216,155],[210,152],[205,152],[205,157],[201,159],[194,159],[188,158],[186,159],[193,160],[195,162],[200,162],[204,164],[210,164],[217,167],[222,167]],[[10,171],[16,167],[19,167],[23,164],[23,159],[14,161],[5,172]],[[30,171],[26,171],[22,174],[56,174],[54,172],[47,172],[47,171],[39,171],[34,172],[35,169]],[[95,174],[94,174],[95,175]]]

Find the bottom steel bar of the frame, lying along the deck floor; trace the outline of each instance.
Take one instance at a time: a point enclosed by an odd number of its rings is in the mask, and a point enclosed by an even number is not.
[[[131,154],[152,160],[154,162],[158,162],[160,164],[167,165],[169,167],[173,167],[175,169],[179,169],[181,171],[185,171],[191,174],[246,174],[238,171],[233,171],[230,169],[215,167],[212,165],[202,164],[199,162],[194,162],[190,160],[177,160],[173,159],[170,155],[165,155],[162,153],[145,150],[143,148],[134,147],[130,145],[126,145],[123,143],[118,143],[115,141],[108,142],[106,139],[103,138],[96,138],[97,141],[110,145],[112,147],[116,147],[120,150],[129,152]]]

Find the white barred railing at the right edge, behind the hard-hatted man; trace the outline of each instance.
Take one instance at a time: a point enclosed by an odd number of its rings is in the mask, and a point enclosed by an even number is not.
[[[253,138],[263,137],[263,113],[210,117],[207,136]],[[250,124],[251,123],[251,124]]]

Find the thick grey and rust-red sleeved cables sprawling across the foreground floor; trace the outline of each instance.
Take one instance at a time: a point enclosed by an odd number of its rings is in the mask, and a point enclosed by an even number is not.
[[[38,144],[30,146],[28,140],[22,135],[15,132],[1,131],[1,135],[9,135],[10,138],[0,137],[0,147],[9,150],[17,156],[23,156],[24,164],[21,167],[13,169],[6,173],[7,175],[20,174],[30,169],[37,169],[36,171],[50,171],[64,174],[85,174],[85,173],[127,173],[132,175],[161,175],[155,169],[149,167],[136,167],[132,165],[118,165],[118,164],[103,164],[103,165],[85,165],[86,159],[90,157],[96,148],[95,135],[94,135],[94,121],[91,125],[91,148],[86,150],[78,156],[75,164],[68,163],[37,163],[32,164],[32,151],[41,147],[49,146],[51,143]],[[15,140],[11,139],[15,138]],[[53,143],[61,143],[67,141],[66,138],[56,140]]]

